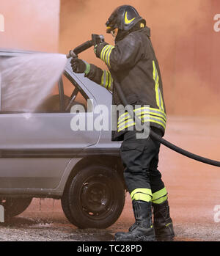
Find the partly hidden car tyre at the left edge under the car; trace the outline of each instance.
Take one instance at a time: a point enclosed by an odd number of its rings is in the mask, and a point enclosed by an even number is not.
[[[32,197],[6,197],[4,199],[0,199],[0,205],[4,207],[4,215],[6,218],[11,218],[23,213],[23,211],[29,207],[31,202]]]

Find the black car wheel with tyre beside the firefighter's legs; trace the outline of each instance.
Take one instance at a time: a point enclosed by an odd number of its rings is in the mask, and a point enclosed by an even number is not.
[[[108,167],[82,169],[70,180],[62,196],[67,219],[79,228],[106,228],[120,217],[125,205],[125,188]]]

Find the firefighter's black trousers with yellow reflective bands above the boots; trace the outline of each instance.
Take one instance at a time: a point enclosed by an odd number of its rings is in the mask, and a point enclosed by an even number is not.
[[[167,199],[158,170],[160,142],[148,136],[136,139],[136,131],[127,131],[120,147],[125,184],[132,200],[162,203]]]

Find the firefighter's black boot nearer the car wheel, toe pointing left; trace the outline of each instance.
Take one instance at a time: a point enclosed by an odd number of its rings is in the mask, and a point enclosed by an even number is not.
[[[132,205],[136,222],[129,228],[128,233],[116,233],[115,241],[155,241],[151,202],[133,200]]]

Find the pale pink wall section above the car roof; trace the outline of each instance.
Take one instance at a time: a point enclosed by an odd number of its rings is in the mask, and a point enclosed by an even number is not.
[[[59,0],[1,0],[0,48],[58,51]]]

